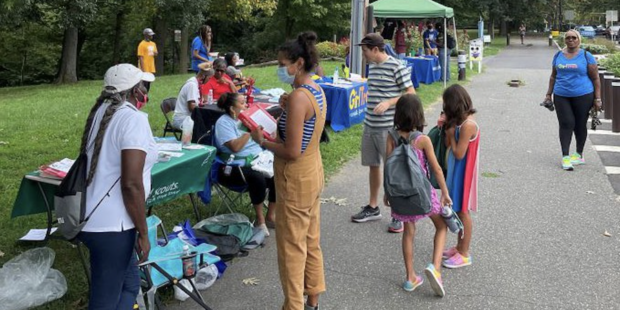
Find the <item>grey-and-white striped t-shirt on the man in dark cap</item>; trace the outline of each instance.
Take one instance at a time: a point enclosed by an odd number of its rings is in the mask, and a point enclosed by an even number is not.
[[[383,114],[373,110],[379,103],[399,97],[411,83],[411,70],[392,56],[379,64],[370,64],[368,73],[368,104],[364,124],[372,129],[391,129],[394,127],[395,106]]]

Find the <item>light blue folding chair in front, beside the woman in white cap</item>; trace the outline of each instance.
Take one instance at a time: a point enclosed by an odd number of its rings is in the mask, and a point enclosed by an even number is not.
[[[203,309],[211,310],[205,304],[193,281],[189,281],[193,288],[192,292],[179,283],[179,280],[184,278],[181,256],[183,256],[183,246],[186,243],[179,238],[168,240],[164,226],[157,216],[151,215],[146,221],[151,251],[149,252],[149,260],[138,265],[141,271],[140,294],[138,294],[136,300],[138,308],[143,310],[161,309],[161,301],[156,295],[157,289],[166,286],[176,286],[189,295]],[[157,238],[158,230],[163,234],[163,245],[159,245]],[[196,257],[194,257],[194,266],[197,266],[196,271],[203,266],[220,261],[218,256],[209,254],[216,249],[213,245],[200,244],[196,247],[188,246],[191,252],[197,253]]]

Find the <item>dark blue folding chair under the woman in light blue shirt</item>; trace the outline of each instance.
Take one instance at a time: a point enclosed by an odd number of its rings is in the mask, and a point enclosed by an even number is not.
[[[207,131],[202,137],[198,138],[196,142],[198,144],[206,144],[213,147],[217,147],[215,145],[215,126],[211,126],[211,129]],[[243,205],[243,196],[248,192],[248,185],[244,178],[245,185],[242,186],[224,186],[219,181],[219,171],[220,169],[226,166],[226,162],[222,160],[219,154],[215,155],[215,159],[213,160],[213,164],[211,165],[211,172],[207,176],[207,182],[205,182],[205,190],[199,193],[200,198],[206,204],[211,202],[210,195],[205,195],[211,193],[211,189],[215,191],[215,193],[220,197],[222,204],[228,209],[230,213],[235,213],[233,210],[233,206],[242,205],[243,207],[252,207],[252,203],[248,202]],[[233,165],[233,169],[241,169],[239,165]],[[243,177],[243,172],[241,171],[241,176]],[[206,197],[209,196],[209,197]],[[220,211],[220,206],[215,210],[215,214],[218,214]]]

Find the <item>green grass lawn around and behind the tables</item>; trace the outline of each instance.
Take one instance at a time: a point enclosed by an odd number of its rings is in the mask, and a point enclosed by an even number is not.
[[[327,62],[324,68],[340,64]],[[456,59],[453,58],[452,81],[457,80]],[[280,83],[276,68],[246,68],[244,74],[257,78],[262,89],[289,87]],[[475,72],[468,70],[471,78]],[[149,121],[155,136],[162,134],[164,117],[159,103],[168,97],[176,97],[184,81],[192,76],[170,75],[158,77],[151,85],[150,103],[143,109],[149,114]],[[10,218],[13,202],[20,181],[27,172],[36,170],[42,164],[65,157],[75,158],[89,109],[101,91],[102,81],[81,81],[74,85],[39,85],[16,88],[0,88],[0,265],[19,253],[42,244],[22,243],[17,239],[31,228],[43,228],[44,214]],[[428,106],[435,102],[443,91],[441,83],[421,84],[417,90],[422,102]],[[431,118],[431,116],[429,116]],[[330,133],[331,142],[321,146],[325,174],[329,178],[344,162],[359,153],[362,126],[356,125],[339,133]],[[205,212],[207,210],[207,212]],[[253,218],[251,210],[239,210]],[[167,228],[184,219],[193,219],[188,199],[178,199],[155,207]],[[203,215],[208,206],[203,208]],[[54,268],[67,278],[69,289],[60,300],[39,307],[39,309],[80,309],[87,303],[88,286],[80,266],[77,251],[67,242],[51,240],[48,246],[56,251]]]

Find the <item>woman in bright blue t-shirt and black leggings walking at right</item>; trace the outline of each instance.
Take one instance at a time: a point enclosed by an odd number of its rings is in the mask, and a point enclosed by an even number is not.
[[[579,48],[581,36],[575,30],[564,35],[566,47],[553,57],[549,89],[545,101],[551,100],[560,123],[562,169],[573,170],[573,165],[583,165],[583,147],[588,136],[588,116],[592,108],[601,108],[601,82],[596,59]],[[571,139],[575,133],[576,152],[569,155]]]

